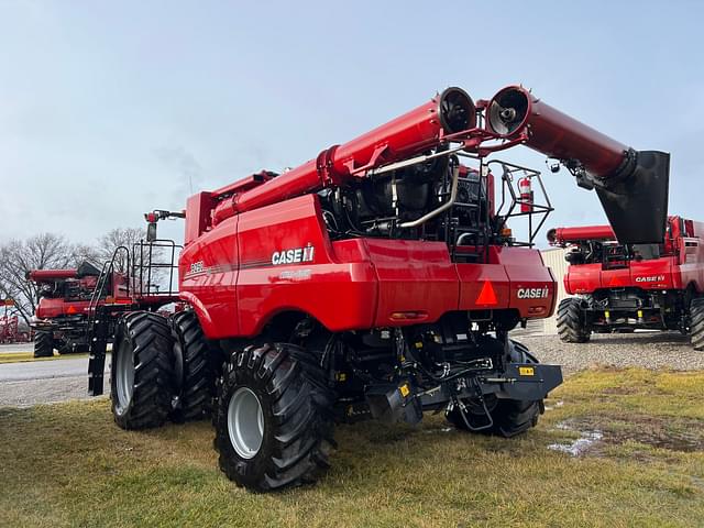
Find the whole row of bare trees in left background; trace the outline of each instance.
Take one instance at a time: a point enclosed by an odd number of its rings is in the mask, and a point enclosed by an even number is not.
[[[123,245],[132,253],[132,248],[144,239],[144,230],[139,228],[117,228],[100,237],[92,245],[72,243],[56,233],[42,233],[2,243],[0,299],[14,301],[13,309],[29,324],[38,304],[37,288],[26,279],[30,271],[75,268],[85,261],[101,270],[103,263],[112,258],[117,248]],[[127,268],[127,255],[119,252],[114,270],[125,272]]]

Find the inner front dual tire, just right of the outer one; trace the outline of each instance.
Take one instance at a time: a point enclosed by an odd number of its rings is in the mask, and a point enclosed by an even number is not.
[[[178,399],[169,418],[182,422],[210,416],[216,380],[213,360],[218,354],[202,333],[191,310],[174,314],[169,319],[174,336]]]

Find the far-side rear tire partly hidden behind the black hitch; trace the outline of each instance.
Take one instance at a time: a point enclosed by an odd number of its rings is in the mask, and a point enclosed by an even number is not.
[[[516,341],[512,341],[510,344],[514,348],[513,355],[516,355],[516,360],[524,363],[538,363],[538,360],[528,352],[526,346]],[[450,424],[462,431],[512,438],[537,426],[538,417],[544,410],[542,399],[499,399],[494,395],[487,395],[484,399],[492,416],[492,427],[484,427],[490,421],[484,407],[476,400],[464,402],[464,416],[458,407],[448,407],[444,416]]]

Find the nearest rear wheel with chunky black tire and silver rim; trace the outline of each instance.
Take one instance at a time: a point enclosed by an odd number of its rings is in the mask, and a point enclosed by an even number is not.
[[[254,492],[312,483],[329,468],[332,393],[322,370],[293,344],[233,352],[213,417],[220,469]]]

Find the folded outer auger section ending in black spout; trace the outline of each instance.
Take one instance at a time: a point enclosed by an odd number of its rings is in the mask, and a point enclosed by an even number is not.
[[[559,160],[585,188],[595,188],[623,244],[657,243],[668,213],[670,154],[636,151],[542,102],[520,86],[488,103],[488,129]]]

